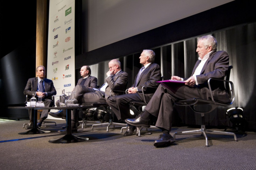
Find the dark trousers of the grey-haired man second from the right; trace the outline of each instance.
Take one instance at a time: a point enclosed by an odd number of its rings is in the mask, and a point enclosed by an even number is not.
[[[131,101],[143,101],[143,99],[138,93],[131,93],[109,97],[107,104],[111,107],[118,120],[125,120],[134,117],[134,115],[130,114],[129,102]]]

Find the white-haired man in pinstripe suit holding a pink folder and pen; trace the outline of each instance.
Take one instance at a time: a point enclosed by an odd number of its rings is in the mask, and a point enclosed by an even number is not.
[[[199,60],[195,63],[190,78],[172,76],[171,80],[185,81],[180,83],[161,83],[145,108],[145,112],[135,119],[126,119],[127,124],[149,127],[150,118],[157,117],[155,126],[162,130],[154,146],[165,146],[175,142],[169,134],[172,124],[173,105],[177,100],[202,98],[211,100],[207,86],[209,78],[224,79],[229,67],[229,55],[225,51],[216,51],[217,41],[213,36],[198,38],[197,53]],[[214,100],[228,102],[229,95],[223,84],[214,84],[212,87]]]

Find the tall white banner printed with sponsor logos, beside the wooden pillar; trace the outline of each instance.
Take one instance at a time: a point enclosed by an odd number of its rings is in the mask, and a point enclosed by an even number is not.
[[[57,90],[70,92],[75,87],[75,0],[49,1],[47,78]],[[67,95],[67,93],[66,93]]]

